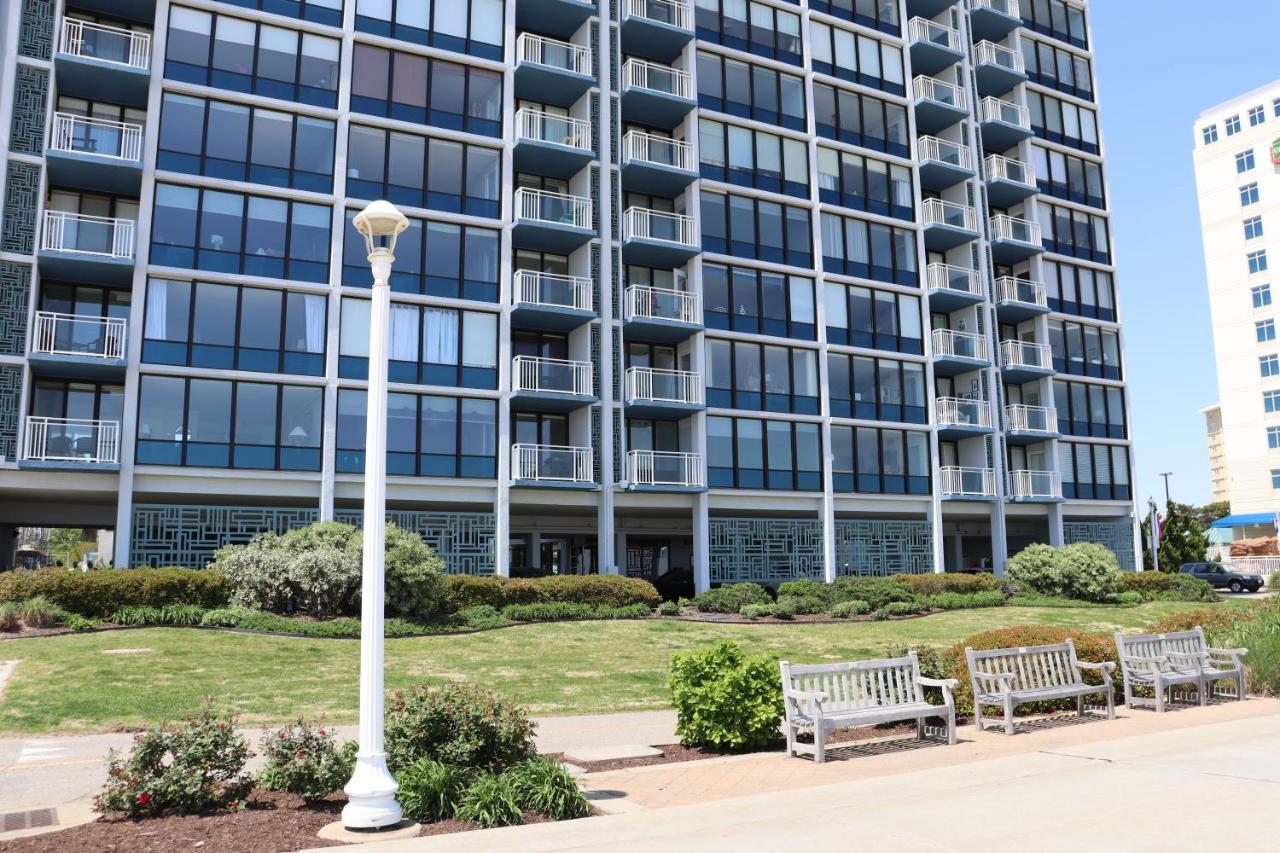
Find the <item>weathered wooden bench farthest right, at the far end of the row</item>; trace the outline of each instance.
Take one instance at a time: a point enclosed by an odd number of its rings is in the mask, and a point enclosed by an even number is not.
[[[1165,694],[1180,684],[1193,685],[1199,703],[1204,704],[1213,685],[1226,679],[1235,681],[1234,698],[1244,699],[1244,661],[1240,658],[1249,649],[1211,648],[1199,625],[1170,634],[1116,634],[1116,651],[1124,672],[1124,701],[1130,708],[1153,706],[1162,712]],[[1151,688],[1155,698],[1134,695],[1138,686]]]

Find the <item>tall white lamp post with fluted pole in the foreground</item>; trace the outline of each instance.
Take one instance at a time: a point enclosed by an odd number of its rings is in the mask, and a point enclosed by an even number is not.
[[[358,214],[356,231],[365,238],[374,272],[369,320],[369,400],[365,428],[365,551],[360,601],[360,752],[343,789],[347,829],[384,829],[401,821],[398,785],[387,770],[383,748],[383,573],[387,539],[387,324],[396,238],[408,228],[389,201],[375,201]]]

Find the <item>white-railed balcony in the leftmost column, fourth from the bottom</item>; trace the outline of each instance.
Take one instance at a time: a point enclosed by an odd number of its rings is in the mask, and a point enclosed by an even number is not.
[[[142,186],[142,126],[54,113],[45,163],[50,183],[137,196]]]

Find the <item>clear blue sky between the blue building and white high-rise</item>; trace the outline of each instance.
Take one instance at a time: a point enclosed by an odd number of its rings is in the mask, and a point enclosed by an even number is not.
[[[1217,401],[1217,375],[1192,124],[1206,108],[1280,78],[1275,0],[1093,0],[1089,6],[1137,497],[1142,506],[1148,497],[1162,503],[1160,473],[1172,471],[1175,501],[1206,503],[1208,451],[1198,410]]]

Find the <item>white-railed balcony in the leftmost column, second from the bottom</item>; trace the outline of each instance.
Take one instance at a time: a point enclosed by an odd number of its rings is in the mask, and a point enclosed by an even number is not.
[[[73,379],[120,379],[128,365],[123,316],[36,311],[27,361],[37,374]]]

